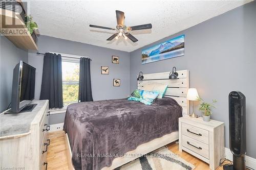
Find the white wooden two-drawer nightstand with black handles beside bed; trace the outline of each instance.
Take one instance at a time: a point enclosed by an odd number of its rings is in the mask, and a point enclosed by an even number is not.
[[[224,123],[216,120],[204,122],[202,117],[179,118],[179,151],[209,163],[216,169],[224,158]]]

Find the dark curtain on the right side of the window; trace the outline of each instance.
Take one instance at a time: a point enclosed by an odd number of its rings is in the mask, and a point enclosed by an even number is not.
[[[79,69],[79,96],[80,102],[93,101],[91,86],[90,58],[80,58]]]

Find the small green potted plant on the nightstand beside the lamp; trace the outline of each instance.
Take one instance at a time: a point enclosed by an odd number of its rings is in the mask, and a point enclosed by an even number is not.
[[[205,122],[210,121],[210,115],[211,115],[211,109],[216,108],[214,104],[217,102],[217,100],[212,100],[212,103],[206,103],[203,99],[199,98],[202,103],[200,104],[199,110],[203,111],[203,120]]]

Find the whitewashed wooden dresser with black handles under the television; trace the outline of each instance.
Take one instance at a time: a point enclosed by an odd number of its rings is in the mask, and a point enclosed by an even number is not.
[[[0,167],[47,169],[48,103],[33,101],[32,112],[0,114]]]

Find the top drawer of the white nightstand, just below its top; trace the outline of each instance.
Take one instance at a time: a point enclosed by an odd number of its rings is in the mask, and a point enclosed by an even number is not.
[[[209,144],[209,131],[182,123],[182,134]]]

